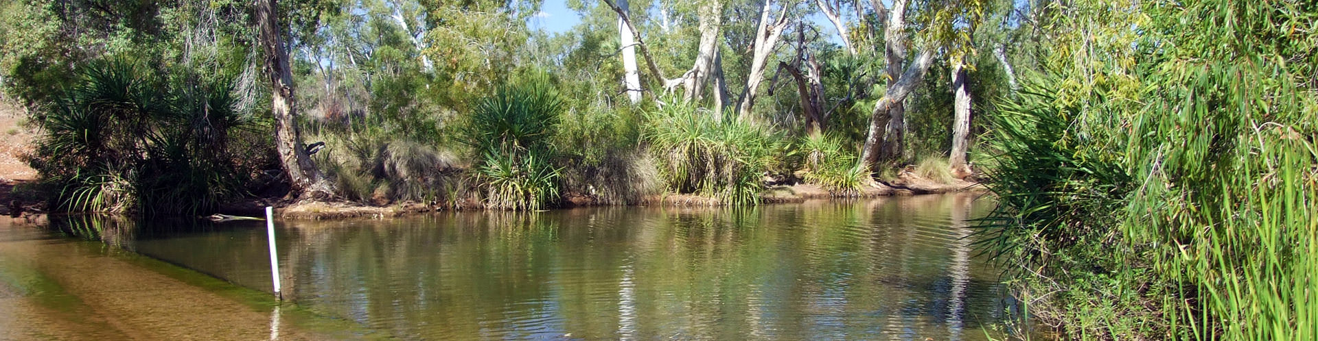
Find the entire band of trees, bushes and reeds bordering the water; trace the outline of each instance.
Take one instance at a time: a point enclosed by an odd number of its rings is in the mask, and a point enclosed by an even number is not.
[[[978,246],[1066,337],[1318,338],[1310,1],[569,1],[559,33],[540,1],[257,3],[0,0],[26,190],[195,216],[978,179]]]

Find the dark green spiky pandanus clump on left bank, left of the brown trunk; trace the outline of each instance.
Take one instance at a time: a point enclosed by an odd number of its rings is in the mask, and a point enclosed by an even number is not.
[[[46,112],[30,163],[65,188],[61,209],[214,209],[241,188],[229,134],[252,125],[232,84],[174,84],[130,61],[95,62]]]

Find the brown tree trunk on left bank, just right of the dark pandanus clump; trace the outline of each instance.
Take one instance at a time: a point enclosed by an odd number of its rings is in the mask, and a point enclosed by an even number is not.
[[[265,50],[265,68],[270,75],[270,112],[274,113],[274,146],[285,175],[293,186],[291,195],[299,197],[324,199],[333,196],[333,187],[326,180],[320,169],[307,155],[298,134],[297,97],[293,96],[293,71],[289,68],[289,53],[279,37],[278,8],[275,0],[256,0],[258,39]]]

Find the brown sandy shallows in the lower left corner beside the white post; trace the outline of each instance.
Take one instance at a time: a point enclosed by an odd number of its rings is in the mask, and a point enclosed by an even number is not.
[[[0,221],[0,340],[339,338],[290,325],[289,304],[170,267]]]

